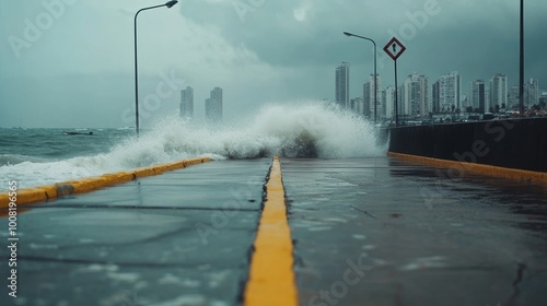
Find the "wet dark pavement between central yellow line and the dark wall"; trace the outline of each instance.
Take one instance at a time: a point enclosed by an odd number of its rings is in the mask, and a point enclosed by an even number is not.
[[[300,305],[546,305],[547,188],[393,158],[282,166]]]

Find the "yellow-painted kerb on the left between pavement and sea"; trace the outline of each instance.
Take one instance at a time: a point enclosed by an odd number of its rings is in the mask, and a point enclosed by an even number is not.
[[[119,172],[105,174],[98,177],[89,177],[77,180],[68,180],[49,186],[39,186],[35,188],[25,188],[16,190],[16,204],[30,204],[34,202],[47,201],[61,196],[90,192],[103,187],[108,187],[121,183],[127,183],[140,177],[159,175],[167,170],[184,168],[190,165],[210,162],[211,158],[191,158],[174,163],[154,165],[144,168],[138,168],[129,172]],[[8,208],[10,198],[8,192],[0,195],[0,209]]]

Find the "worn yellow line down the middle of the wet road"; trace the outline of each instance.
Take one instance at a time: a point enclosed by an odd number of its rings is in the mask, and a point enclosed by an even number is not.
[[[274,157],[245,287],[245,306],[298,305],[293,266],[281,165],[279,158]]]

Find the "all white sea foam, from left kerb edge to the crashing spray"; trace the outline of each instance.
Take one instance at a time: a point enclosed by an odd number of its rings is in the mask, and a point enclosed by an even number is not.
[[[373,127],[359,116],[318,103],[300,104],[266,106],[238,127],[166,118],[140,138],[118,142],[108,153],[1,166],[0,189],[5,189],[9,179],[33,187],[195,156],[347,158],[385,152],[376,145]]]

